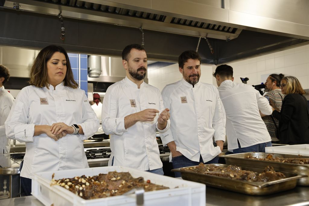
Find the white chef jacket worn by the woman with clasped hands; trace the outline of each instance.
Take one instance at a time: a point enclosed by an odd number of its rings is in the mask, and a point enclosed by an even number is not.
[[[35,125],[52,125],[64,122],[78,124],[84,135],[67,134],[58,141],[46,134],[33,136]],[[21,177],[43,171],[87,168],[83,140],[93,135],[99,120],[81,89],[66,87],[63,83],[54,90],[28,86],[23,88],[12,106],[5,122],[6,135],[26,143]]]

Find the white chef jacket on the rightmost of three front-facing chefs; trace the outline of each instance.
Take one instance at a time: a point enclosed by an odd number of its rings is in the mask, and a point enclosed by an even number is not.
[[[221,153],[214,140],[225,141],[225,113],[214,85],[193,85],[183,78],[162,90],[164,106],[170,109],[171,128],[160,132],[163,145],[175,141],[176,150],[191,161],[212,160]],[[170,158],[171,160],[171,158]]]

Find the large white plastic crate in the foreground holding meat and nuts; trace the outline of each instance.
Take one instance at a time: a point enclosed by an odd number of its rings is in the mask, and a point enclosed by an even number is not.
[[[41,172],[32,176],[32,195],[44,205],[50,206],[135,206],[136,195],[120,195],[94,200],[84,200],[74,193],[58,185],[50,186],[53,173],[54,179],[73,178],[75,176],[93,176],[110,171],[129,172],[133,178],[143,177],[151,183],[170,187],[171,189],[150,191],[144,193],[144,206],[177,205],[198,206],[205,205],[206,186],[197,182],[190,182],[178,178],[171,178],[150,172],[139,171],[128,167],[110,166],[93,167],[77,170],[62,170],[55,172]],[[178,188],[175,188],[178,187]]]

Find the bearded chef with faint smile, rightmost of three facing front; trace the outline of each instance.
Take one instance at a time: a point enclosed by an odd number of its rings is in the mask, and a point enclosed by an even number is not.
[[[160,132],[162,143],[171,150],[174,168],[218,163],[225,141],[225,113],[219,92],[214,85],[199,81],[201,57],[197,52],[184,51],[178,64],[183,78],[162,91],[164,106],[171,113],[170,130]]]

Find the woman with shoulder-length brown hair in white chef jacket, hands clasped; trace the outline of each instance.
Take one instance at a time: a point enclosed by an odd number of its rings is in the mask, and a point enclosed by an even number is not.
[[[32,174],[87,168],[83,140],[99,120],[74,81],[66,50],[50,45],[37,55],[31,86],[23,88],[6,119],[6,135],[26,143],[21,185],[30,195]]]

